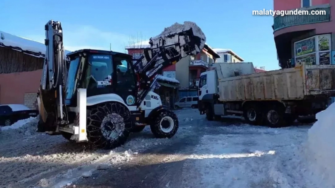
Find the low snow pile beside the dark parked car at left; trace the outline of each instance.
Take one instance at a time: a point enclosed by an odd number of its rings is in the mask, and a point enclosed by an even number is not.
[[[0,139],[20,138],[22,135],[31,136],[37,134],[37,123],[37,118],[30,117],[25,120],[19,120],[11,126],[1,127]]]

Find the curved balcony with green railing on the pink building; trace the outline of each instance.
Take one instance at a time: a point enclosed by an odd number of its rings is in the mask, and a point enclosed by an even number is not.
[[[303,24],[311,24],[311,23],[319,23],[319,22],[327,22],[330,21],[330,6],[329,4],[311,6],[311,7],[303,7],[298,9],[298,11],[306,11],[303,13],[305,15],[284,15],[284,16],[276,16],[274,18],[273,31],[277,31],[286,27],[294,26],[294,25],[303,25]],[[295,10],[293,10],[295,11]],[[307,14],[307,11],[310,15]],[[315,11],[325,11],[326,14],[323,15],[312,15],[311,13],[315,13]]]

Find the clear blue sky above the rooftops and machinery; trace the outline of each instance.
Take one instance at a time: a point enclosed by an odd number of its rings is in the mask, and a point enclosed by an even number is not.
[[[124,51],[131,38],[149,39],[175,22],[196,22],[213,48],[229,48],[245,61],[278,69],[273,17],[252,10],[273,9],[271,0],[4,0],[0,30],[44,41],[44,25],[61,21],[68,50]]]

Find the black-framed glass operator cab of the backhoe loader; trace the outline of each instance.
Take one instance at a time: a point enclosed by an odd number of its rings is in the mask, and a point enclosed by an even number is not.
[[[67,54],[66,105],[75,106],[77,88],[85,88],[87,97],[115,93],[128,106],[135,104],[136,78],[132,56],[125,53],[83,49]]]

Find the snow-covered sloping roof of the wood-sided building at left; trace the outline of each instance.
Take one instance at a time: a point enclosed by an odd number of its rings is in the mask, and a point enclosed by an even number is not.
[[[35,57],[45,57],[46,46],[44,43],[12,35],[3,31],[0,31],[0,46],[21,51]],[[69,52],[71,51],[65,50],[65,54]]]

